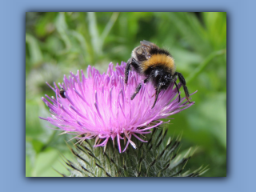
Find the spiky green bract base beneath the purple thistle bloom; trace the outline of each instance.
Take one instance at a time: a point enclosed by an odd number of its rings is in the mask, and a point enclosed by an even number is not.
[[[167,130],[154,129],[146,134],[148,142],[134,139],[137,149],[129,146],[125,153],[118,152],[118,145],[94,148],[93,139],[77,143],[70,150],[77,159],[65,159],[70,175],[64,177],[197,177],[206,172],[206,167],[197,170],[186,168],[191,158],[188,150],[182,157],[178,155],[181,137],[166,140]]]

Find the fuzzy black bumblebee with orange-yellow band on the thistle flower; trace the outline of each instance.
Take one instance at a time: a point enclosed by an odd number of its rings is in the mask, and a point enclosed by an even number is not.
[[[186,99],[190,102],[190,94],[186,87],[185,78],[181,73],[176,71],[176,66],[174,64],[174,58],[166,50],[160,49],[152,42],[142,41],[140,42],[141,46],[137,46],[131,53],[131,58],[126,64],[125,70],[125,82],[128,82],[129,71],[131,66],[134,67],[134,70],[139,74],[144,75],[144,83],[153,82],[155,92],[154,105],[158,100],[158,94],[161,90],[166,90],[170,86],[171,82],[174,82],[177,90],[178,86],[175,82],[176,77],[178,76],[179,81],[182,83],[183,90],[186,94]],[[131,96],[131,100],[135,98],[139,90],[142,88],[142,83],[139,83],[136,87],[134,94]],[[179,93],[179,90],[178,90]],[[179,95],[178,102],[180,102],[181,97]],[[152,109],[154,108],[152,106]]]

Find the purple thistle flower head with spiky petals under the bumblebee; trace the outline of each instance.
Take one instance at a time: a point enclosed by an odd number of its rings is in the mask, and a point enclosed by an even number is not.
[[[124,82],[126,63],[114,66],[110,63],[107,73],[100,74],[94,67],[88,66],[85,77],[82,70],[77,74],[70,72],[70,77],[64,75],[64,82],[56,85],[56,97],[42,97],[42,101],[50,108],[51,117],[42,118],[67,134],[76,134],[75,138],[96,138],[94,146],[106,146],[111,139],[117,139],[119,152],[124,152],[129,144],[136,148],[131,138],[142,140],[139,134],[149,134],[150,129],[160,126],[161,118],[185,110],[194,104],[186,98],[178,102],[178,91],[174,83],[167,90],[162,90],[153,109],[155,89],[151,82],[142,83],[142,88],[133,100],[136,86],[143,77],[130,71],[127,85]],[[181,88],[181,83],[178,88]],[[65,96],[60,94],[63,89]],[[127,143],[121,149],[120,140]]]

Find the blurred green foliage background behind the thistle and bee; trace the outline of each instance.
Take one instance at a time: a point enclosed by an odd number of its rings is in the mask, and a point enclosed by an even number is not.
[[[26,176],[66,173],[72,158],[68,135],[49,129],[41,97],[54,95],[46,82],[63,74],[104,72],[126,62],[142,40],[166,48],[186,78],[196,105],[175,114],[170,136],[182,133],[182,150],[197,147],[186,168],[209,166],[203,176],[226,176],[226,13],[26,13]],[[182,91],[182,96],[184,92]],[[50,126],[53,127],[53,126]]]

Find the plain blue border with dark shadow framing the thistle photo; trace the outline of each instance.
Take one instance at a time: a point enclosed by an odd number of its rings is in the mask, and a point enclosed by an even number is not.
[[[2,158],[5,191],[252,191],[255,22],[252,1],[1,2]],[[226,178],[26,178],[25,15],[29,11],[223,11],[227,13]],[[246,102],[245,102],[246,101]],[[214,167],[211,167],[214,169]],[[64,180],[65,179],[65,180]]]

